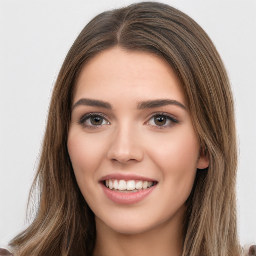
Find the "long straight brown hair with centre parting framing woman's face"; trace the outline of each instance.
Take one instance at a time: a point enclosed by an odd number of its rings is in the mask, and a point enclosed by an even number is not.
[[[207,34],[165,4],[144,2],[96,16],[69,50],[49,108],[32,189],[39,206],[32,224],[11,242],[17,255],[92,255],[94,214],[76,183],[67,151],[71,104],[81,68],[114,46],[164,58],[179,77],[201,150],[210,160],[198,170],[187,200],[182,255],[241,255],[236,227],[234,106],[223,63]],[[33,191],[33,190],[31,190]]]

